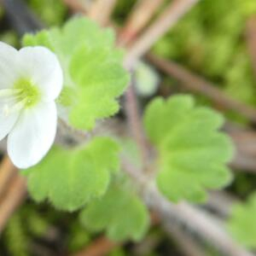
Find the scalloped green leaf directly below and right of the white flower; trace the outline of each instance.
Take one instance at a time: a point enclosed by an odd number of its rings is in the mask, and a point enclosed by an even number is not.
[[[30,195],[62,210],[77,210],[105,193],[111,172],[119,170],[118,153],[119,146],[108,137],[96,137],[75,150],[53,148],[26,171]]]

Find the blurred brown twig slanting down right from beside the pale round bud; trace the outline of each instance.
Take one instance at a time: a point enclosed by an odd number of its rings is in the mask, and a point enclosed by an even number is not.
[[[148,55],[148,60],[158,67],[164,73],[172,76],[174,79],[178,79],[182,82],[187,89],[200,92],[204,96],[208,96],[213,102],[218,103],[226,109],[235,110],[241,113],[247,119],[250,119],[253,123],[256,123],[256,109],[241,102],[237,102],[235,99],[230,98],[224,94],[223,91],[218,90],[217,86],[207,82],[200,76],[189,72],[180,65],[174,63],[173,61],[166,61],[155,55]]]

